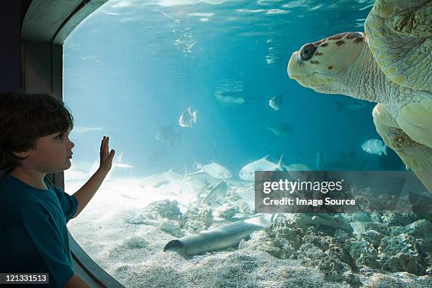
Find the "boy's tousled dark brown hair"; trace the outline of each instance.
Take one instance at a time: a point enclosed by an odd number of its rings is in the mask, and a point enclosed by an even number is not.
[[[13,152],[35,148],[35,140],[73,128],[64,102],[47,94],[0,94],[0,169],[13,171],[20,160]]]

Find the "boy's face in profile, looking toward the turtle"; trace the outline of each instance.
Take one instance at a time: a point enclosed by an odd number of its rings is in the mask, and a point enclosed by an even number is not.
[[[71,167],[72,148],[75,146],[69,139],[71,129],[65,133],[54,133],[37,138],[35,148],[26,151],[27,159],[21,161],[23,166],[38,172],[54,173]]]

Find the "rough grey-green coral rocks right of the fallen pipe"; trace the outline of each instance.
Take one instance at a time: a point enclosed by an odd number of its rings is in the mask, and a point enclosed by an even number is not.
[[[360,222],[359,218],[372,221]],[[304,266],[318,267],[328,280],[346,281],[352,286],[360,283],[353,274],[359,269],[372,274],[371,269],[383,269],[425,275],[432,259],[428,252],[432,251],[431,222],[416,220],[399,227],[389,224],[415,219],[411,214],[390,213],[373,213],[370,219],[363,214],[344,217],[301,213],[291,220],[277,215],[262,232],[265,237],[257,237],[243,247],[266,251],[281,259],[298,259]],[[349,220],[359,224],[358,231],[363,232],[352,234]]]

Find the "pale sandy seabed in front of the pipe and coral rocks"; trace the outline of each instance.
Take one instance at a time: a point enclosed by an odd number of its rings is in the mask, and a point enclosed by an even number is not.
[[[73,193],[82,184],[66,181],[66,191]],[[237,181],[232,186],[248,188],[243,191],[248,190],[247,198],[253,199],[250,183]],[[149,203],[169,197],[145,190],[140,179],[105,181],[83,212],[68,222],[68,229],[84,251],[125,287],[352,287],[325,280],[323,272],[304,267],[299,260],[275,258],[247,246],[188,258],[163,252],[165,244],[179,237],[127,219]],[[355,275],[359,287],[432,287],[428,275],[383,270]]]

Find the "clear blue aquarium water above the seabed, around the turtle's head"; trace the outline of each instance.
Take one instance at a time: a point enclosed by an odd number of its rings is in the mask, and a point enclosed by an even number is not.
[[[337,112],[349,97],[324,95],[287,76],[292,52],[308,42],[363,31],[372,0],[352,1],[108,1],[81,23],[64,44],[64,100],[75,126],[104,127],[73,133],[73,160],[97,160],[100,140],[110,136],[121,162],[117,176],[146,176],[193,162],[223,164],[234,176],[248,162],[270,154],[285,164],[315,168],[354,152],[345,169],[397,170],[394,153],[370,155],[361,144],[378,138],[374,103]],[[178,5],[182,4],[182,5]],[[244,97],[224,107],[215,94]],[[283,93],[280,112],[268,100]],[[198,123],[182,128],[179,116],[198,110]],[[283,121],[288,136],[262,123]],[[174,124],[182,139],[155,139]],[[162,154],[162,151],[164,152]],[[160,153],[158,153],[160,152]]]

